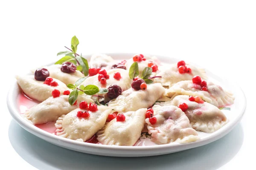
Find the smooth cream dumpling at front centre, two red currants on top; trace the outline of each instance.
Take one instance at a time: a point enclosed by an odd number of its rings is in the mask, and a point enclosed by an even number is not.
[[[144,128],[146,111],[146,108],[142,108],[126,112],[124,122],[113,119],[97,133],[97,139],[102,144],[133,146]]]

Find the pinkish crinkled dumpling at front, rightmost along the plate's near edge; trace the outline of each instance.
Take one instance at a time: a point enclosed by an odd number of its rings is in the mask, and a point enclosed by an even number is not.
[[[151,125],[149,118],[148,133],[157,143],[167,144],[171,142],[194,142],[199,139],[198,133],[189,124],[189,119],[180,108],[176,106],[154,105],[154,116],[157,122]]]

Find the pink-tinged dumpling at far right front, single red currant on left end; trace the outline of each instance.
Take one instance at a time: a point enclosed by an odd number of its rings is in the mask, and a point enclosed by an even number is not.
[[[195,130],[212,133],[227,123],[224,113],[212,104],[191,102],[189,96],[186,95],[176,96],[172,100],[172,105],[179,106],[181,103],[186,103],[189,106],[185,114]]]

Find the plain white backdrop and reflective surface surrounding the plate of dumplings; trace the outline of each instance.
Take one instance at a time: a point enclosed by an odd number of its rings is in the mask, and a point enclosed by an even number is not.
[[[139,52],[191,60],[235,79],[247,97],[241,123],[212,144],[166,156],[110,158],[62,149],[29,134],[6,107],[15,74],[78,52]],[[256,2],[0,1],[0,169],[255,169]],[[246,167],[246,168],[245,168]]]

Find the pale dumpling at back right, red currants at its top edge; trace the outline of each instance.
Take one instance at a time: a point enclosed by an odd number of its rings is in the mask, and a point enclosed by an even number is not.
[[[186,64],[186,67],[191,68],[192,72],[180,74],[177,68],[177,64],[169,65],[168,67],[162,66],[161,71],[156,76],[161,78],[155,78],[154,82],[160,82],[163,86],[171,87],[173,84],[183,81],[192,80],[195,75],[200,76],[202,79],[207,79],[207,75],[204,69],[196,68],[193,65]]]

